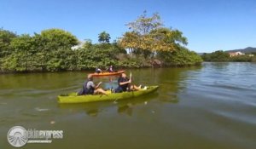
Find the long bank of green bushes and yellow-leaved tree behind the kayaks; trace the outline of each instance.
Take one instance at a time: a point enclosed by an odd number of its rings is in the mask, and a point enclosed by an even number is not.
[[[0,29],[1,72],[57,72],[96,67],[192,66],[201,57],[189,51],[183,33],[162,24],[159,14],[144,12],[128,23],[129,31],[110,43],[101,32],[99,43],[80,42],[71,32],[53,28],[33,35]]]

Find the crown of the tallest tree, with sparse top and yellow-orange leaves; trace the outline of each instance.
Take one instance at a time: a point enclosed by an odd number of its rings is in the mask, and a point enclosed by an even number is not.
[[[147,17],[144,12],[137,20],[127,24],[131,32],[125,32],[119,38],[119,44],[146,58],[157,51],[173,51],[188,43],[182,32],[163,27],[161,22],[159,14]]]

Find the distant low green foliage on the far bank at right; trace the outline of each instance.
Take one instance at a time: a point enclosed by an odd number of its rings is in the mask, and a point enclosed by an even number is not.
[[[255,62],[256,56],[249,54],[236,55],[230,57],[230,54],[222,50],[212,52],[211,54],[202,54],[201,58],[204,61],[235,61],[235,62]]]

